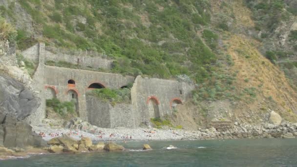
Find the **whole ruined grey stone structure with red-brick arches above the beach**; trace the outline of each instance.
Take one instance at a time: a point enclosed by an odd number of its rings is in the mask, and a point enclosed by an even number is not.
[[[58,98],[61,101],[76,101],[80,117],[92,125],[101,127],[138,127],[150,118],[170,115],[175,104],[183,103],[191,95],[193,86],[172,80],[156,78],[136,78],[120,74],[70,69],[44,65],[45,60],[62,60],[72,63],[70,57],[59,56],[45,50],[44,44],[32,46],[22,52],[26,59],[38,62],[37,70],[33,76],[35,87],[38,87],[42,105],[39,111],[30,117],[31,124],[39,124],[45,117],[45,100]],[[100,64],[106,68],[111,67],[111,61],[101,58],[88,63],[93,58],[82,58],[83,65],[93,66]],[[87,60],[87,61],[86,61]],[[97,62],[97,63],[96,63]],[[94,88],[121,88],[133,83],[131,88],[131,103],[109,103],[87,95],[87,91]]]

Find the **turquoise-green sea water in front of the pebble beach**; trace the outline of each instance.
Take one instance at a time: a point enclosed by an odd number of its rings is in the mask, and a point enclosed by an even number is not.
[[[145,143],[153,150],[141,151]],[[163,148],[169,145],[178,148]],[[0,167],[297,167],[297,139],[150,141],[123,146],[132,150],[34,155],[0,161]]]

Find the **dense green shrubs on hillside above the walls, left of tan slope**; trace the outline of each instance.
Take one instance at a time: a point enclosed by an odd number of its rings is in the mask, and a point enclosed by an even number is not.
[[[218,36],[205,30],[203,38],[207,47],[196,34],[201,26],[211,21],[208,1],[54,2],[21,0],[20,4],[35,23],[42,25],[41,31],[48,44],[103,52],[115,59],[113,72],[159,78],[186,74],[201,83],[215,70],[209,66],[217,59],[214,52]],[[47,12],[40,12],[40,8]],[[18,35],[19,48],[23,49],[30,36],[23,30],[19,30]],[[189,61],[191,65],[185,65]]]

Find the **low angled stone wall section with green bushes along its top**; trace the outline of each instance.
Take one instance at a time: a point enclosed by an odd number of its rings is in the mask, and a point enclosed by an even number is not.
[[[88,122],[92,125],[105,128],[118,126],[135,128],[137,119],[132,112],[131,104],[115,104],[103,102],[91,95],[86,96]]]

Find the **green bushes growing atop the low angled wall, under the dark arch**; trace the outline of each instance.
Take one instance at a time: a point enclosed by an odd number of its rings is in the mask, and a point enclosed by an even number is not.
[[[117,103],[129,103],[131,99],[130,87],[121,89],[94,89],[91,94],[105,102],[110,102],[112,105]]]

